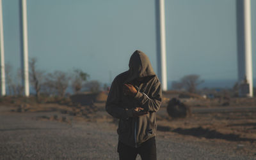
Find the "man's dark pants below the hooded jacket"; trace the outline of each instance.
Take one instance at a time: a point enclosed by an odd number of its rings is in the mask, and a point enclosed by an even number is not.
[[[122,142],[118,142],[117,152],[120,160],[135,160],[137,154],[140,154],[142,160],[156,160],[156,140],[150,138],[142,143],[140,147],[130,147]]]

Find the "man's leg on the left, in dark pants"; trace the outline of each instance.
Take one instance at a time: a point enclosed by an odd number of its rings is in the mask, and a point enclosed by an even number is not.
[[[137,157],[136,148],[118,142],[117,152],[120,160],[135,160]]]

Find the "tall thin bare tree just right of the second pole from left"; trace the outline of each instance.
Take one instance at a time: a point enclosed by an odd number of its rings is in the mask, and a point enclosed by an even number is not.
[[[29,61],[29,80],[36,91],[36,98],[40,97],[40,89],[43,82],[44,71],[36,68],[37,59],[31,58]]]

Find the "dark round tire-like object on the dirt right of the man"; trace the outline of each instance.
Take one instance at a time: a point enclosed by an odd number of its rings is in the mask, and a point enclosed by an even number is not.
[[[167,106],[167,113],[172,118],[184,118],[191,114],[189,106],[180,102],[177,98],[172,98]]]

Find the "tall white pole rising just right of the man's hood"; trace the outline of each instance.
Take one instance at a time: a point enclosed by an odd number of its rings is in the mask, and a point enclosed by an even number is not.
[[[156,0],[157,66],[163,91],[167,91],[164,0]]]

